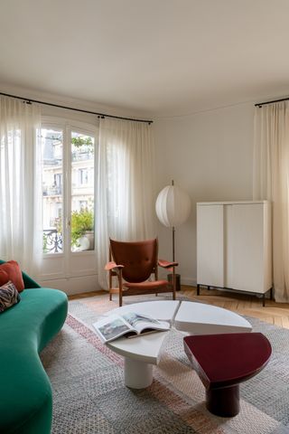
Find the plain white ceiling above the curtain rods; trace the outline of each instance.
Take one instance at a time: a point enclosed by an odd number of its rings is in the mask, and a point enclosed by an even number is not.
[[[0,0],[1,85],[152,116],[289,94],[289,0]]]

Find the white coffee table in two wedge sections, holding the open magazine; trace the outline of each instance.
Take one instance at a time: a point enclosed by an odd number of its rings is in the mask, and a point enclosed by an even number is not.
[[[147,314],[190,335],[251,332],[252,325],[238,314],[221,307],[191,301],[147,301],[107,312],[106,315],[136,312]],[[160,359],[167,332],[121,338],[107,343],[107,347],[125,358],[125,384],[133,389],[144,389],[153,382],[153,365]]]

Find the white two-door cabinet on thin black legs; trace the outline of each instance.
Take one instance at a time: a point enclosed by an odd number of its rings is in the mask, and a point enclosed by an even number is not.
[[[272,288],[271,204],[197,203],[197,284],[265,294]]]

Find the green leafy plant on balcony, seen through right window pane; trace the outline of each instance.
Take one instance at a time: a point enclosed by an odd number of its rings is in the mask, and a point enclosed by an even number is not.
[[[89,208],[71,213],[71,247],[80,250],[94,249],[94,212]]]

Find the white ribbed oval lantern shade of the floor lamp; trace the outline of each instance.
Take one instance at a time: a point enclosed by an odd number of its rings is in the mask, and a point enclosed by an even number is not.
[[[179,226],[190,215],[190,196],[177,185],[167,185],[157,196],[155,212],[164,226]]]

